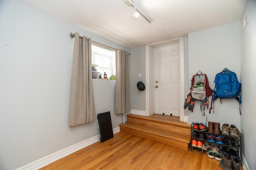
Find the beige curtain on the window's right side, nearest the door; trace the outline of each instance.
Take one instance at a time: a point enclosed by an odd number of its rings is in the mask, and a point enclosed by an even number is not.
[[[116,50],[116,114],[126,113],[131,110],[129,92],[129,54]]]

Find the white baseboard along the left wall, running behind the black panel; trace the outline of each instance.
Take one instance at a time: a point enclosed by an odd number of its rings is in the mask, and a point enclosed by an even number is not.
[[[120,127],[116,127],[113,129],[113,133],[120,132]],[[96,143],[100,141],[100,135],[96,135],[94,137],[91,137],[90,139],[86,139],[82,142],[76,143],[70,147],[64,148],[62,150],[59,150],[53,154],[50,154],[48,156],[45,156],[44,158],[38,159],[34,162],[31,162],[29,164],[26,164],[20,168],[17,168],[16,170],[35,170],[40,169],[56,160],[59,160],[60,158],[63,158],[65,156],[68,156],[69,154],[72,154],[80,149],[83,149],[85,147],[88,147],[89,145],[92,145],[93,143]]]

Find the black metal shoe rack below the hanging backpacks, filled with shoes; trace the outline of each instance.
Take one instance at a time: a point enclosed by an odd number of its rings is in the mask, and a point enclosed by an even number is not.
[[[240,135],[239,135],[239,137],[238,137],[238,139],[237,139],[237,138],[230,137],[230,136],[216,135],[216,134],[214,134],[214,133],[209,133],[208,131],[194,130],[193,127],[194,127],[194,122],[191,124],[191,141],[190,141],[191,151],[193,150],[193,148],[202,149],[202,148],[199,148],[199,147],[193,147],[193,146],[192,146],[192,140],[196,140],[196,141],[201,141],[202,143],[207,143],[209,146],[216,146],[216,147],[218,147],[219,149],[221,149],[221,147],[224,147],[224,146],[227,147],[228,150],[229,150],[229,149],[233,149],[233,150],[235,150],[236,152],[238,152],[238,157],[240,158],[240,160],[242,160],[242,159],[241,159],[241,158],[242,158],[241,133],[240,133]],[[204,140],[198,139],[198,138],[197,138],[197,139],[193,138],[192,133],[193,133],[194,131],[197,131],[198,133],[204,133],[205,136],[206,136],[206,138],[205,138]],[[222,132],[222,131],[221,131],[221,132]],[[220,132],[220,133],[221,133],[221,132]],[[215,143],[209,142],[209,141],[207,140],[207,135],[221,136],[221,137],[223,138],[223,141],[226,141],[225,139],[238,140],[240,146],[239,146],[239,147],[229,146],[229,145],[226,145],[224,142],[223,142],[223,145],[220,145],[220,144],[218,144],[218,143],[216,143],[216,142],[215,142]]]

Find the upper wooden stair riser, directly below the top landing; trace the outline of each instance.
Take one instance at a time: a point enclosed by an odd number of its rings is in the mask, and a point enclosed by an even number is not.
[[[156,129],[164,129],[167,131],[173,131],[178,133],[183,133],[190,135],[190,127],[181,127],[178,125],[172,125],[171,123],[158,122],[158,121],[149,121],[147,119],[140,119],[136,117],[127,117],[128,122],[136,123],[139,125],[146,125],[151,127],[156,127]]]

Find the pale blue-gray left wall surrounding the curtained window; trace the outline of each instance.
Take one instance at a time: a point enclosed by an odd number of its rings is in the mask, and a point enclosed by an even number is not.
[[[16,0],[0,1],[0,169],[13,170],[99,135],[98,121],[68,126],[70,32],[116,49],[131,49],[44,14]],[[111,111],[114,80],[93,80],[96,113]]]

